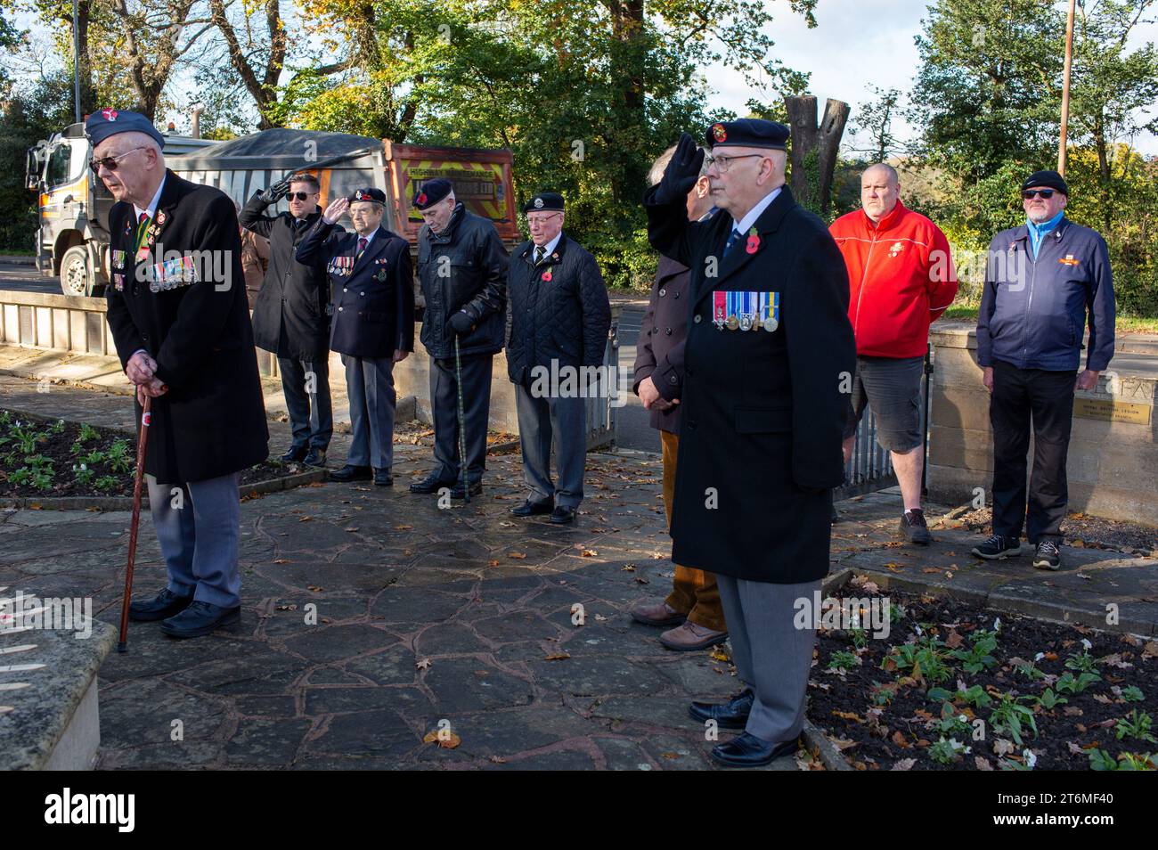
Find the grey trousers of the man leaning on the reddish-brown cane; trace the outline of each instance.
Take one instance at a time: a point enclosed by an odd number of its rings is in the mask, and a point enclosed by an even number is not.
[[[237,545],[241,538],[240,475],[157,483],[146,475],[153,527],[169,571],[169,589],[198,602],[241,604]]]

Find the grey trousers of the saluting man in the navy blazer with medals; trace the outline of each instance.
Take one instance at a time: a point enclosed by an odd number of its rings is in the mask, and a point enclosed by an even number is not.
[[[394,359],[342,356],[350,397],[350,454],[354,467],[389,469],[394,463]]]

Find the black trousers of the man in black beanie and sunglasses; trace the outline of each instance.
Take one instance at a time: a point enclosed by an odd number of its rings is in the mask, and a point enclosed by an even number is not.
[[[1061,541],[1069,490],[1065,455],[1073,422],[1073,372],[1019,369],[994,361],[994,534],[1031,543]],[[1026,513],[1026,453],[1033,424],[1033,475]]]

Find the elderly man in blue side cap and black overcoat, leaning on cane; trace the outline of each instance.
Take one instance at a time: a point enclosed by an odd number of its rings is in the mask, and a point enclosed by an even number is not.
[[[237,475],[269,454],[241,236],[223,192],[164,167],[164,138],[137,112],[85,123],[109,213],[109,327],[125,374],[153,417],[145,462],[168,586],[129,616],[173,637],[241,615]]]

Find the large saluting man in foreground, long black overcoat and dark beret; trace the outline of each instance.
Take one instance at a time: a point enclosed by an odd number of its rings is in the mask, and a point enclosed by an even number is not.
[[[652,246],[691,270],[672,559],[717,576],[745,690],[690,713],[745,730],[712,750],[734,767],[797,747],[815,623],[794,614],[828,572],[856,366],[848,272],[784,185],[787,137],[755,119],[708,130],[706,221],[688,220],[704,153],[687,133],[644,199]]]

